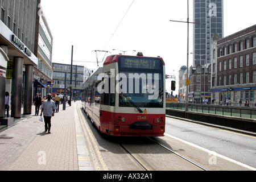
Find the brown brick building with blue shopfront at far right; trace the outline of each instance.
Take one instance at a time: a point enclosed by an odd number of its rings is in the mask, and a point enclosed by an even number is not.
[[[256,25],[217,40],[212,49],[212,97],[217,103],[255,104]]]

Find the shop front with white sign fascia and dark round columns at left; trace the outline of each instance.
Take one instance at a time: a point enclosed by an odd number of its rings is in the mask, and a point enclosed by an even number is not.
[[[2,21],[0,30],[0,57],[5,57],[0,67],[1,74],[5,75],[0,78],[0,107],[4,105],[3,93],[9,92],[11,117],[20,118],[22,104],[23,114],[31,114],[33,68],[38,64],[38,58]],[[4,109],[1,108],[0,117],[4,117]]]

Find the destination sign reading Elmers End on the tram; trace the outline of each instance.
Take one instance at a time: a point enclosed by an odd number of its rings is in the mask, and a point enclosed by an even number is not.
[[[159,59],[125,57],[121,60],[121,68],[160,69],[161,62]]]

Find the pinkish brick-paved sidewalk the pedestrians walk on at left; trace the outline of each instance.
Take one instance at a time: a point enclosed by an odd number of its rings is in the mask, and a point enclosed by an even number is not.
[[[52,117],[51,134],[44,132],[38,115],[27,115],[1,131],[0,170],[78,171],[76,104],[72,102],[66,110],[60,105],[59,113]]]

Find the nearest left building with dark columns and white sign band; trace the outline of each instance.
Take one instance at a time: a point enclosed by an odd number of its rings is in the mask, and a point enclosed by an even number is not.
[[[11,117],[21,117],[22,104],[23,114],[31,114],[39,4],[40,0],[0,0],[0,118],[5,92],[11,96]]]

